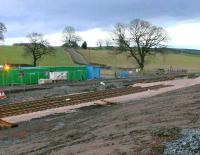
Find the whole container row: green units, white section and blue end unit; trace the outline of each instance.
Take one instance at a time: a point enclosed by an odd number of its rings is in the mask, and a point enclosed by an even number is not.
[[[99,78],[100,68],[93,66],[22,67],[10,70],[0,70],[0,86],[29,85],[58,80],[82,81]]]

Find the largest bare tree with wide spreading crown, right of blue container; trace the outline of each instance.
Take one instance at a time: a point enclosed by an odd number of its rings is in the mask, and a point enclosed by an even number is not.
[[[145,56],[155,48],[163,47],[168,40],[166,31],[148,21],[135,19],[129,25],[118,23],[114,30],[114,40],[121,51],[129,52],[140,69],[144,69]]]

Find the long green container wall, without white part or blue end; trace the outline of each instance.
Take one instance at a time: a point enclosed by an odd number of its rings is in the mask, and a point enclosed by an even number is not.
[[[11,69],[8,72],[0,70],[0,86],[38,84],[39,79],[49,79],[49,72],[67,71],[66,80],[87,80],[87,68],[85,66],[75,67],[32,67]]]

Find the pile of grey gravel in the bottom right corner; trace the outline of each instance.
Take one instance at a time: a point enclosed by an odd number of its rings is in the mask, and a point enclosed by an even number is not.
[[[200,129],[184,129],[182,137],[165,145],[164,155],[200,154]]]

